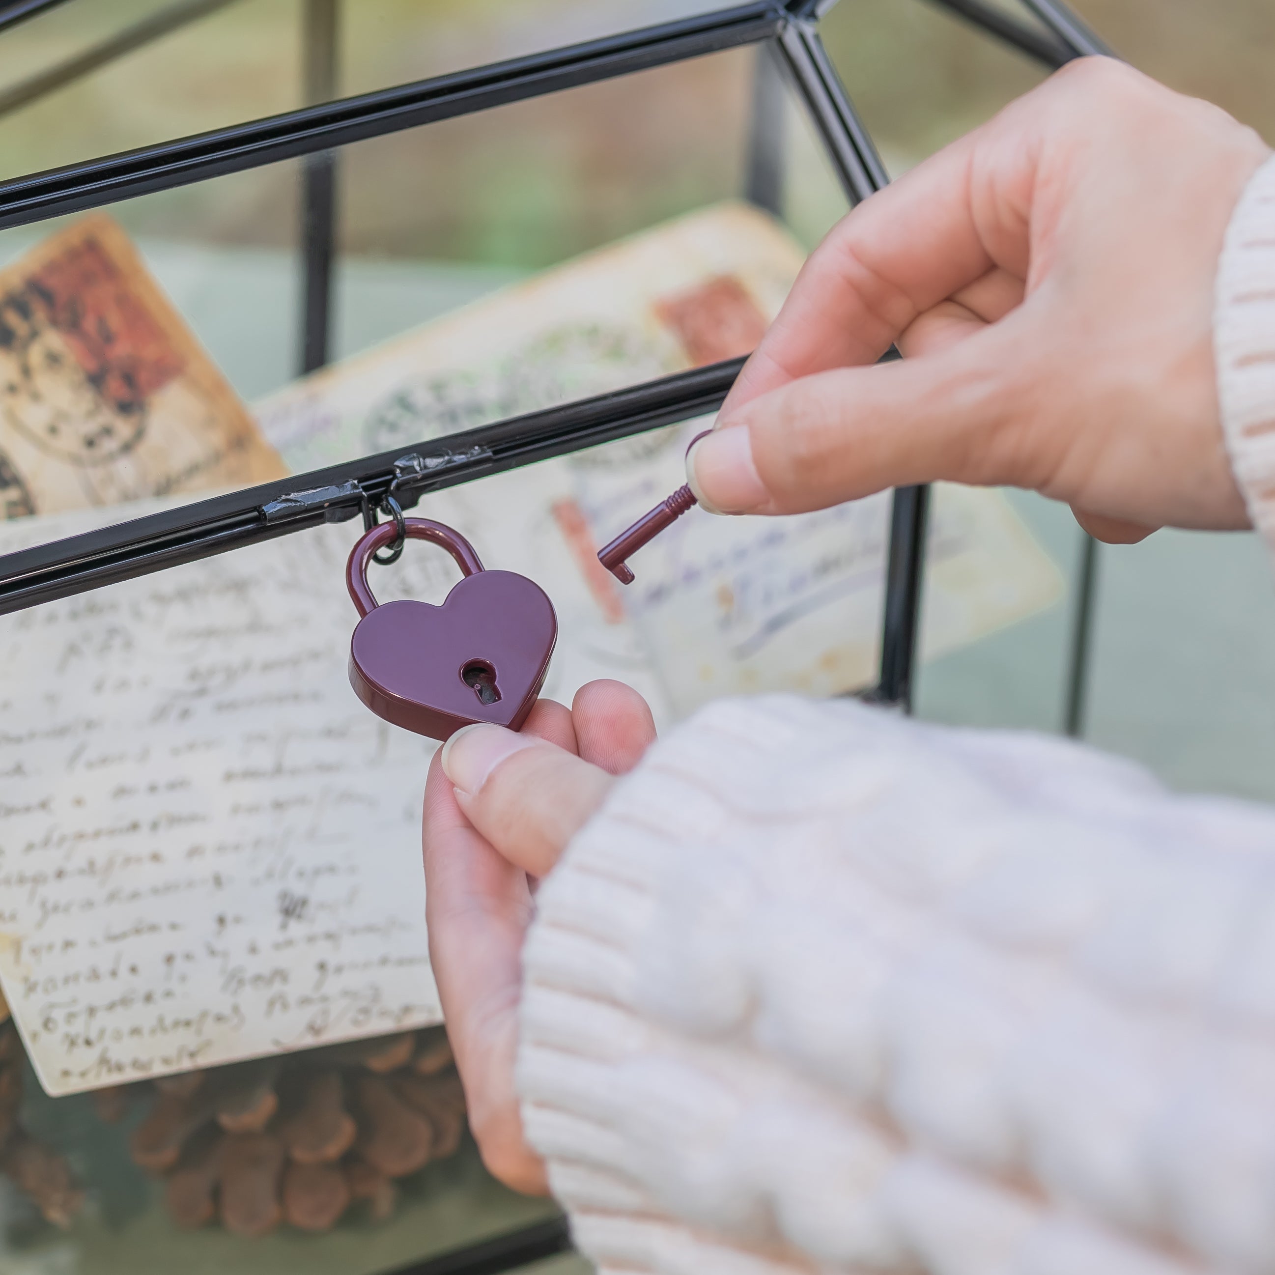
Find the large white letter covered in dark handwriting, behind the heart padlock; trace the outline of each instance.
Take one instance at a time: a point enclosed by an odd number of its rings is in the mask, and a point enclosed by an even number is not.
[[[667,719],[552,491],[516,474],[482,488],[479,506],[458,492],[431,513],[553,597],[546,694],[622,676]],[[0,552],[88,525],[11,523]],[[360,530],[0,617],[0,982],[48,1093],[440,1020],[419,844],[435,746],[349,688]],[[441,601],[458,578],[413,543],[372,584]]]

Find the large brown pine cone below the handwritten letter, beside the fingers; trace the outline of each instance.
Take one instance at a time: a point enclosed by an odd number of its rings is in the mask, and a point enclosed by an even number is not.
[[[454,1154],[465,1126],[441,1029],[133,1089],[153,1094],[130,1140],[133,1159],[164,1178],[177,1225],[217,1219],[246,1237],[280,1223],[330,1230],[360,1202],[376,1219],[390,1216],[394,1179]],[[117,1119],[126,1102],[124,1093],[105,1090],[98,1112]]]

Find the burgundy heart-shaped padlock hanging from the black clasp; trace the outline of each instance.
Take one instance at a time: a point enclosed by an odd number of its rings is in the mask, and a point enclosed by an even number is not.
[[[372,597],[367,564],[400,533],[441,544],[464,572],[441,607]],[[362,616],[349,682],[377,717],[433,740],[476,722],[516,731],[527,720],[557,641],[553,603],[538,584],[484,571],[463,536],[425,518],[372,528],[349,555],[346,584]]]

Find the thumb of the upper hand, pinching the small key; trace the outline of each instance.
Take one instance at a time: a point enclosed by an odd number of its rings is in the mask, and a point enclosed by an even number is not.
[[[797,514],[936,479],[1014,482],[1021,458],[996,445],[1017,398],[1007,324],[941,353],[819,372],[752,399],[691,449],[691,490],[711,513]]]

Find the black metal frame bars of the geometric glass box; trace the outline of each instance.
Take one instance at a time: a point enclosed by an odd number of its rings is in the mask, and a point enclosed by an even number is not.
[[[0,32],[65,3],[0,0]],[[177,0],[111,41],[19,84],[9,93],[10,108],[227,3]],[[1021,0],[1035,22],[1014,18],[987,0],[929,3],[1051,69],[1074,57],[1108,52],[1060,0]],[[300,366],[310,371],[328,361],[337,150],[353,142],[752,45],[759,47],[759,61],[748,196],[779,210],[784,142],[776,74],[787,75],[797,91],[850,204],[880,190],[889,181],[885,167],[819,37],[819,19],[833,4],[835,0],[748,0],[678,22],[335,98],[339,0],[305,0],[303,107],[0,182],[0,228],[301,158],[305,300]],[[0,94],[0,110],[5,102]],[[400,449],[363,456],[3,556],[0,615],[354,518],[368,501],[377,505],[390,483],[397,483],[402,504],[409,507],[431,491],[713,412],[741,366],[742,361],[734,361],[668,376],[422,442],[407,454]],[[891,514],[881,677],[873,697],[904,709],[910,704],[919,627],[927,495],[923,487],[895,492]],[[1066,724],[1074,731],[1084,711],[1095,562],[1089,542],[1084,547],[1067,691]],[[495,1275],[569,1247],[565,1223],[555,1220],[444,1255],[400,1275]]]

